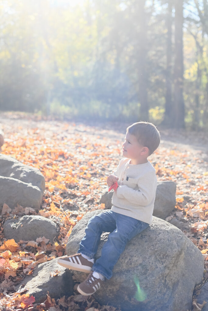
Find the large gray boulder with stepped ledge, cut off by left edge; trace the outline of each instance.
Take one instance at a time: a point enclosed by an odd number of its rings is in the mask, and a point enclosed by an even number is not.
[[[4,203],[10,208],[17,206],[41,207],[45,179],[41,172],[0,154],[0,209]]]

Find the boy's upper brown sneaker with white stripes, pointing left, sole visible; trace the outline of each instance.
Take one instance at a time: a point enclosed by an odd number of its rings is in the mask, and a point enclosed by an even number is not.
[[[57,262],[63,267],[82,272],[91,271],[93,266],[93,262],[82,257],[81,253],[59,257]]]

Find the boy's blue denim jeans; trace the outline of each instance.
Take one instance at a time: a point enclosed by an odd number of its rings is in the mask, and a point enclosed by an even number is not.
[[[109,280],[113,275],[113,267],[123,252],[126,243],[148,226],[148,223],[141,220],[111,210],[104,211],[89,219],[85,229],[85,236],[80,242],[77,253],[94,258],[101,234],[110,232],[108,240],[102,248],[100,258],[96,260],[92,267],[93,271],[101,273]]]

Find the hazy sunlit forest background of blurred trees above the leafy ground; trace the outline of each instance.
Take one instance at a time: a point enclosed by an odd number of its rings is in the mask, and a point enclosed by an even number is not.
[[[207,0],[1,0],[0,110],[208,129]]]

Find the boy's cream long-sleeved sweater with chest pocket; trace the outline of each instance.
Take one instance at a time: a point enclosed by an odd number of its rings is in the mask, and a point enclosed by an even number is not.
[[[119,177],[117,193],[114,191],[111,210],[151,224],[157,188],[156,171],[148,161],[129,164],[131,159],[120,160],[113,175]]]

